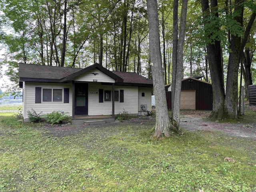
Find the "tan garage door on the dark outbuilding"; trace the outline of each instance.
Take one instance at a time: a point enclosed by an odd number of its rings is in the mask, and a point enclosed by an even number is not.
[[[196,90],[181,91],[180,109],[196,109]]]

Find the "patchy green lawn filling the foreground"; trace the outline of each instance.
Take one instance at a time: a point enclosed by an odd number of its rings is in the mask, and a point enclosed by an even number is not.
[[[0,112],[1,192],[256,191],[254,140],[204,131],[155,140],[153,122],[132,121],[54,134],[12,114]]]

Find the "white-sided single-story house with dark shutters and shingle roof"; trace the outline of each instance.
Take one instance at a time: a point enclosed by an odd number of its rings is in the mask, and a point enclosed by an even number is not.
[[[79,69],[20,63],[19,77],[25,121],[32,109],[42,114],[68,112],[73,120],[88,116],[113,119],[124,111],[140,115],[152,109],[152,80],[99,64]]]

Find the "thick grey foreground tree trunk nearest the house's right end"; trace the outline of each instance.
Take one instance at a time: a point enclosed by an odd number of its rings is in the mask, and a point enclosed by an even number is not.
[[[160,137],[162,133],[170,137],[170,121],[167,110],[166,94],[164,88],[164,76],[160,50],[159,22],[156,0],[147,0],[150,65],[156,101],[156,125],[154,136]]]

